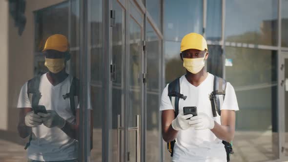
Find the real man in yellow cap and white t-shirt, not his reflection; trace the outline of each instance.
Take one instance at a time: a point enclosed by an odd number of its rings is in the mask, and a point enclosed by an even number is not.
[[[213,117],[209,94],[213,91],[214,76],[204,68],[208,55],[204,37],[197,33],[187,34],[182,39],[180,54],[186,68],[186,75],[180,78],[180,94],[187,98],[179,100],[179,113],[176,118],[168,96],[169,84],[162,93],[162,136],[165,142],[176,139],[173,162],[227,161],[222,141],[232,141],[235,111],[239,108],[235,91],[227,82],[221,116]],[[183,107],[186,106],[196,106],[198,115],[184,115]]]

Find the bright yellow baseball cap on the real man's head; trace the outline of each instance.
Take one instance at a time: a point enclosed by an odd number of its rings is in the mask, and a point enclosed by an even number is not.
[[[205,38],[197,33],[189,33],[185,35],[181,41],[181,49],[183,52],[187,49],[198,49],[200,51],[208,50]]]

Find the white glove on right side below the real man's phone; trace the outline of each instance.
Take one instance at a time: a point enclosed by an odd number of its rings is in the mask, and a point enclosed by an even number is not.
[[[190,118],[189,125],[190,127],[194,127],[196,130],[202,130],[213,129],[215,123],[207,114],[199,113],[197,116]]]

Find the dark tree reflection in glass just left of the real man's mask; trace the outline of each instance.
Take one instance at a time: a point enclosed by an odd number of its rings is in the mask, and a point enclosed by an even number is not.
[[[169,83],[175,80],[176,78],[181,77],[185,73],[186,70],[183,67],[183,61],[180,59],[180,56],[166,61],[165,65],[166,83]]]

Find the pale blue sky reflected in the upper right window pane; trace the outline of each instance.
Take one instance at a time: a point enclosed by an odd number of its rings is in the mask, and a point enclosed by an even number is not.
[[[277,19],[277,0],[226,0],[226,36],[260,32],[263,20]]]

